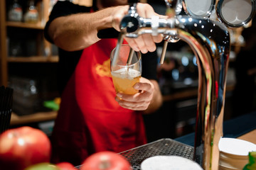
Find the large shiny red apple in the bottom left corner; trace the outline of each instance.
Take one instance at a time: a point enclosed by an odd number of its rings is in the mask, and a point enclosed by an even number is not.
[[[0,135],[0,169],[21,170],[32,164],[50,162],[50,140],[38,129],[23,126]]]

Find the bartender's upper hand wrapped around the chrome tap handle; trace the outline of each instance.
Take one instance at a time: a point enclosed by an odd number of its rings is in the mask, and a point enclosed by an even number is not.
[[[151,18],[152,16],[159,16],[160,18],[166,18],[154,12],[154,9],[149,4],[137,4],[137,13],[142,18]],[[128,14],[128,7],[125,6],[122,10],[114,11],[112,16],[112,26],[114,29],[120,31],[119,25],[122,18]],[[138,38],[125,38],[129,45],[135,51],[141,51],[142,53],[154,52],[156,50],[156,43],[163,40],[162,35],[153,36],[151,34],[139,35]]]

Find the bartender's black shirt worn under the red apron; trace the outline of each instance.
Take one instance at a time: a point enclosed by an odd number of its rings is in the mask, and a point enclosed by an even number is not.
[[[44,29],[46,40],[53,43],[53,40],[51,40],[48,35],[48,27],[55,18],[75,13],[90,13],[90,10],[91,7],[73,4],[70,1],[58,1],[55,6],[53,6],[53,10],[50,13],[49,20]],[[97,9],[94,8],[94,11],[96,10]],[[58,48],[58,55],[58,86],[61,94],[80,60],[82,50],[68,52]],[[148,52],[146,55],[142,54],[142,77],[146,79],[156,79],[157,60],[156,51]]]

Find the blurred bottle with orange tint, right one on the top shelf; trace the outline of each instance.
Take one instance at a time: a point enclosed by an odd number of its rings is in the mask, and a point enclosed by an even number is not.
[[[28,1],[28,8],[24,15],[25,23],[38,23],[38,10],[33,0]]]

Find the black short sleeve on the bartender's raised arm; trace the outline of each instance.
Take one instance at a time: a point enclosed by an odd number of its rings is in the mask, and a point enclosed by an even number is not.
[[[49,19],[44,28],[44,36],[46,40],[53,43],[53,40],[51,40],[48,34],[48,28],[50,26],[50,23],[55,18],[58,18],[60,16],[68,16],[70,14],[75,14],[75,13],[87,13],[87,12],[90,12],[90,7],[73,4],[70,1],[57,1],[57,3],[53,6],[53,10],[50,12]]]

